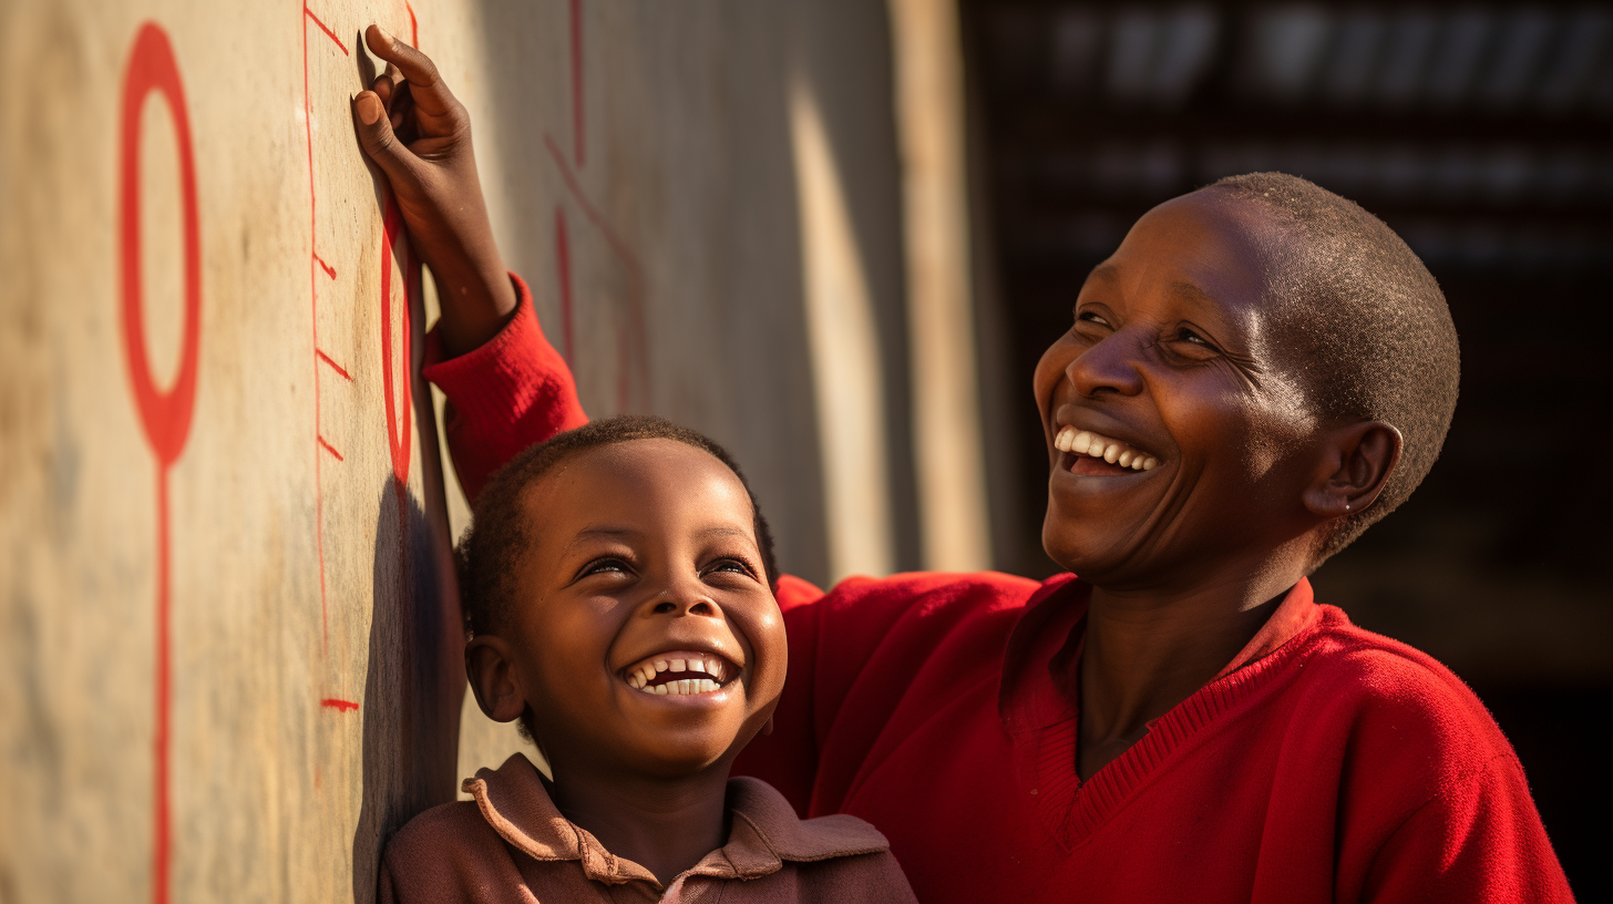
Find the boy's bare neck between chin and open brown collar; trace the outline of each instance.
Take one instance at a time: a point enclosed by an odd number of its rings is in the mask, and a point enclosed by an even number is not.
[[[661,885],[727,843],[727,772],[713,767],[676,780],[602,775],[581,764],[555,767],[548,793],[560,812],[618,857]]]

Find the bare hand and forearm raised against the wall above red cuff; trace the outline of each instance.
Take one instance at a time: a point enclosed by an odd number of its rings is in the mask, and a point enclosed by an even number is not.
[[[437,278],[444,352],[463,355],[497,336],[516,305],[482,203],[471,118],[429,56],[377,26],[365,31],[365,44],[387,69],[353,97],[353,123]]]

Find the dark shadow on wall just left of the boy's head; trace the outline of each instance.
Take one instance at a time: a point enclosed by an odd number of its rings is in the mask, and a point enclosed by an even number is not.
[[[376,505],[374,609],[365,676],[363,804],[353,831],[353,901],[376,899],[386,843],[416,814],[453,801],[458,701],[440,655],[458,638],[440,604],[432,525],[394,479]],[[456,652],[458,647],[455,647]]]

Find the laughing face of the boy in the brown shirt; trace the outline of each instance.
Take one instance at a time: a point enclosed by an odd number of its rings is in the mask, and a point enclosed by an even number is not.
[[[616,442],[555,465],[523,507],[511,612],[473,641],[482,707],[531,707],[556,778],[673,778],[737,754],[784,688],[786,644],[734,471],[673,439]]]

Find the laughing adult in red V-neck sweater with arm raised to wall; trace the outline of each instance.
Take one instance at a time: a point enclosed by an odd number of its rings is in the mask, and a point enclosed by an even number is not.
[[[486,218],[447,223],[468,149],[415,152],[463,110],[405,140],[356,113],[410,228],[453,236],[421,249],[468,299],[427,376],[476,492],[582,413]],[[1244,176],[1148,211],[1071,320],[1034,379],[1071,573],[779,580],[792,673],[737,768],[877,825],[932,902],[1569,901],[1479,701],[1307,580],[1444,442],[1457,336],[1421,262],[1331,192]]]

